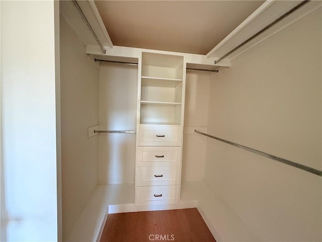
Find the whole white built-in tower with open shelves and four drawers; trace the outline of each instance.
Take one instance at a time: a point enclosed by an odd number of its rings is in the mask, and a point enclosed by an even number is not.
[[[142,52],[138,72],[135,205],[178,204],[184,56]]]

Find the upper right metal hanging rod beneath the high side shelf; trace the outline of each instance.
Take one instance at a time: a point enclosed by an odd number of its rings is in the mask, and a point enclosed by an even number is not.
[[[285,19],[287,16],[289,16],[290,14],[292,14],[293,12],[295,12],[296,10],[298,10],[299,8],[301,8],[302,6],[304,6],[305,4],[307,4],[308,2],[310,2],[310,1],[302,1],[301,3],[299,3],[298,5],[296,5],[294,8],[292,8],[289,11],[287,11],[285,14],[283,14],[282,16],[280,16],[279,18],[277,18],[276,20],[274,20],[272,23],[270,23],[269,25],[265,26],[263,29],[261,29],[260,31],[258,31],[256,34],[252,35],[247,40],[245,40],[244,42],[242,42],[241,44],[239,44],[237,47],[233,48],[228,53],[226,53],[223,56],[221,56],[219,59],[217,59],[217,61],[215,61],[215,64],[217,64],[223,58],[225,58],[228,55],[230,55],[231,53],[235,52],[237,49],[239,49],[240,47],[244,46],[245,44],[247,44],[251,40],[255,39],[257,36],[259,36],[260,34],[262,34],[263,32],[265,32],[269,28],[273,27],[275,24],[277,24],[281,20]]]

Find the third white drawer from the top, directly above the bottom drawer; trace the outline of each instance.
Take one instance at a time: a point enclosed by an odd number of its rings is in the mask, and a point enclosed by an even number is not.
[[[178,185],[180,166],[137,167],[136,186]]]

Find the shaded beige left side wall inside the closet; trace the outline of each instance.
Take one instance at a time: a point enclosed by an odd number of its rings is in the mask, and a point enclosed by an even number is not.
[[[61,152],[63,239],[98,185],[99,73],[85,44],[60,18]]]

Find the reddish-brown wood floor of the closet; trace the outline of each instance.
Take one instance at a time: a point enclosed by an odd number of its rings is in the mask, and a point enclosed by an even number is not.
[[[196,208],[109,214],[100,242],[215,242]]]

